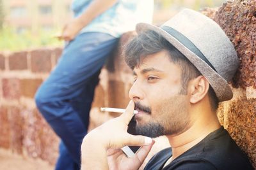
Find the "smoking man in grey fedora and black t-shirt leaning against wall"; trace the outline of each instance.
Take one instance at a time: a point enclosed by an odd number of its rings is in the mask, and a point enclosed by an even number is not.
[[[136,31],[125,50],[134,71],[132,101],[120,117],[84,138],[82,168],[138,169],[154,145],[151,138],[166,135],[172,148],[157,153],[145,169],[252,169],[216,116],[218,102],[232,98],[227,81],[239,64],[219,25],[183,10],[161,27],[138,24]],[[142,136],[126,132],[134,108]],[[120,150],[125,145],[141,149],[127,158]]]

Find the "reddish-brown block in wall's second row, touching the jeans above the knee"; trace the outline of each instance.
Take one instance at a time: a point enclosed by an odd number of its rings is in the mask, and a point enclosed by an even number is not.
[[[36,90],[43,82],[42,79],[21,79],[20,80],[20,92],[21,96],[31,97],[33,98],[35,96]]]

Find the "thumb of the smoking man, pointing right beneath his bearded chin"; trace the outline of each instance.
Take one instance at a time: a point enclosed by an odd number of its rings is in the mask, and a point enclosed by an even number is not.
[[[130,146],[150,145],[152,141],[153,140],[147,136],[127,134],[127,140],[125,145],[130,145]]]

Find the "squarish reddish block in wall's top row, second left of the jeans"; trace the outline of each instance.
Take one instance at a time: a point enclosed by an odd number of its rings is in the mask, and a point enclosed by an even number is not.
[[[32,72],[47,72],[52,68],[51,50],[34,50],[31,52],[31,71]]]

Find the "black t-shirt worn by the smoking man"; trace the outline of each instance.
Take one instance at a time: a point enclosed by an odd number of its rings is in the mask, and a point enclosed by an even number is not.
[[[172,157],[172,148],[166,148],[154,155],[145,169],[253,169],[246,155],[223,127],[206,136],[200,143],[163,168],[170,157]]]

